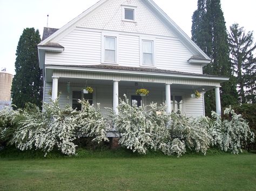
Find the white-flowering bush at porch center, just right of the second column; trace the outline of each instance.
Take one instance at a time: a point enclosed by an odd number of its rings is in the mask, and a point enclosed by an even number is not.
[[[147,118],[145,107],[132,107],[125,96],[125,100],[120,100],[118,111],[119,115],[113,115],[113,124],[120,133],[119,144],[133,152],[146,154],[154,147],[154,124]]]

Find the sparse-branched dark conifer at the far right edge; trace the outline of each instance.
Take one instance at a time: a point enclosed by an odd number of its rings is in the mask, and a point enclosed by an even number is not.
[[[255,103],[256,85],[256,58],[253,51],[253,33],[239,27],[237,23],[230,26],[228,43],[231,49],[231,63],[234,75],[237,76],[238,92],[241,103]]]

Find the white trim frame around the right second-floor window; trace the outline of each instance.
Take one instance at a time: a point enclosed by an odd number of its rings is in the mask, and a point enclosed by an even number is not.
[[[145,65],[143,63],[143,40],[149,40],[149,41],[153,41],[153,65]],[[150,68],[156,68],[156,38],[153,37],[140,37],[139,38],[139,57],[140,57],[140,66],[143,67],[150,67]]]

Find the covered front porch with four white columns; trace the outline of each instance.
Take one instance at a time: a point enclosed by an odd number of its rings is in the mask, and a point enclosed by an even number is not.
[[[119,98],[124,94],[129,98],[133,106],[140,104],[166,103],[167,112],[180,112],[188,116],[204,116],[204,93],[215,88],[217,112],[220,113],[220,81],[211,77],[190,76],[154,76],[138,74],[112,74],[91,71],[69,71],[52,70],[51,82],[45,82],[44,101],[49,102],[50,98],[55,100],[59,92],[59,104],[69,104],[73,108],[79,108],[78,99],[85,98],[96,105],[100,103],[100,110],[107,115],[105,108],[113,108],[118,114]],[[200,79],[201,78],[201,79]],[[203,78],[203,79],[202,79]],[[83,87],[93,88],[92,94],[83,94]],[[136,95],[136,90],[146,88],[150,91],[148,96]],[[48,92],[52,90],[52,95]],[[200,98],[192,98],[191,94],[198,90]]]

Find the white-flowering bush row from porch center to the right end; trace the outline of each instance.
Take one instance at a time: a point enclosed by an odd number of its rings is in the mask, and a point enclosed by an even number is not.
[[[150,148],[178,157],[187,150],[206,154],[210,146],[238,153],[254,138],[245,120],[231,109],[224,112],[231,115],[230,119],[221,119],[215,112],[213,119],[169,115],[165,105],[132,107],[126,96],[120,100],[118,109],[113,124],[120,133],[119,144],[140,154],[146,154]]]

